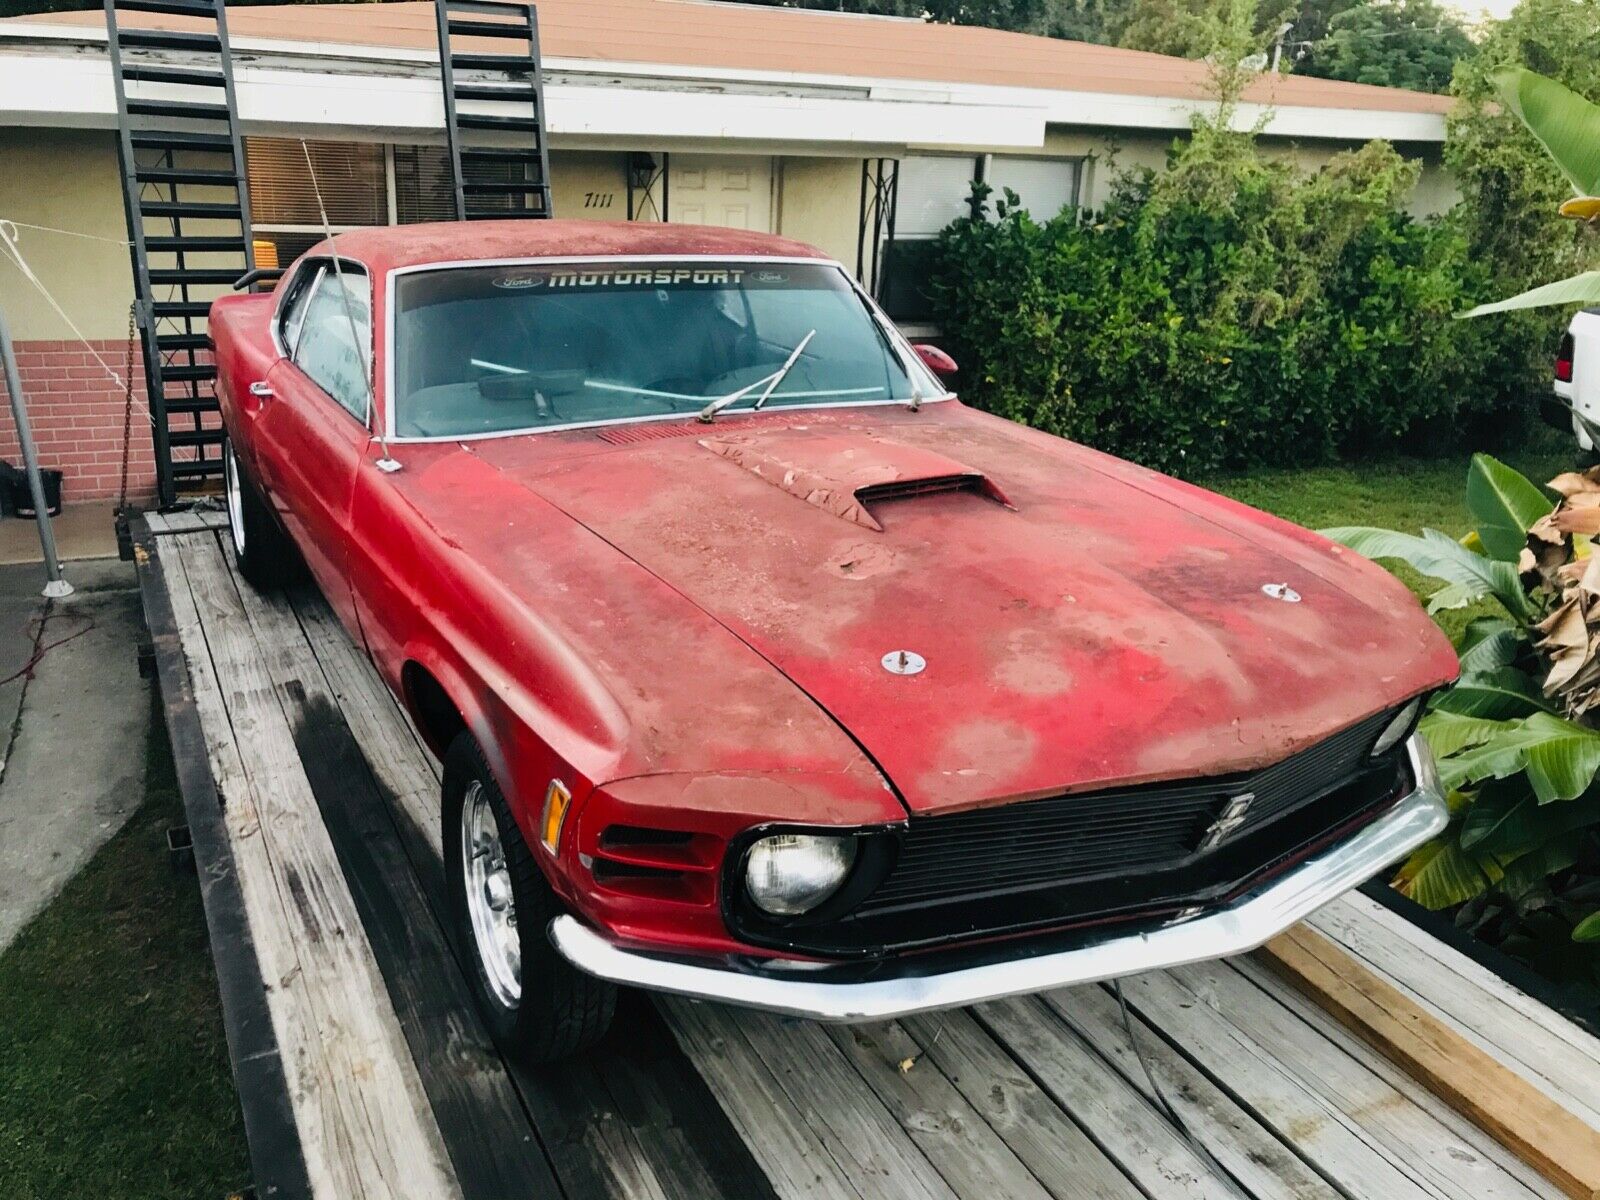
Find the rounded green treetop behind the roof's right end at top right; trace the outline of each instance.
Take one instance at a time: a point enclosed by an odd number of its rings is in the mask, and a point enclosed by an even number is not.
[[[1301,34],[1296,29],[1291,37]],[[1443,91],[1456,62],[1470,56],[1467,30],[1435,0],[1376,0],[1334,13],[1299,69],[1352,83]]]

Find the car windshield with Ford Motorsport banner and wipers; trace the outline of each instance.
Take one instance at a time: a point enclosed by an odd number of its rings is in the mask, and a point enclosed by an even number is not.
[[[395,434],[467,437],[698,413],[802,346],[765,406],[909,400],[845,274],[811,262],[560,262],[395,278]],[[752,384],[760,384],[750,387]],[[933,390],[918,378],[923,394]]]

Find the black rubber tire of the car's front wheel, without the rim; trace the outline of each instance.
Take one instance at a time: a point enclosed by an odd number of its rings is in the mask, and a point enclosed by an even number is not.
[[[469,912],[461,814],[474,786],[482,789],[480,795],[493,811],[510,877],[517,944],[522,950],[520,995],[515,1002],[502,998],[490,982],[490,970]],[[442,798],[450,920],[469,963],[467,978],[490,1035],[507,1058],[526,1064],[555,1062],[587,1050],[611,1026],[616,986],[584,974],[550,944],[546,930],[560,915],[560,902],[517,829],[510,806],[470,733],[458,733],[445,754]]]

